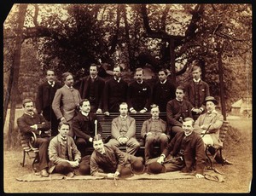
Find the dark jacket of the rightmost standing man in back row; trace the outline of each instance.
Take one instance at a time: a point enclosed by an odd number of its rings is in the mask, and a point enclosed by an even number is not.
[[[195,108],[205,108],[203,102],[210,95],[209,85],[204,82],[199,82],[198,100],[195,99],[195,82],[192,80],[185,86],[185,99],[189,101]]]

